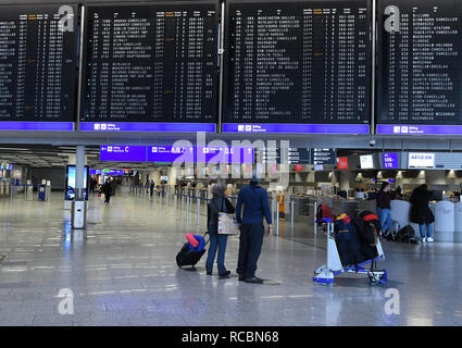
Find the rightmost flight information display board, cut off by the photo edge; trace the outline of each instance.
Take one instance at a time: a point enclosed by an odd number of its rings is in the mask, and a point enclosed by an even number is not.
[[[462,2],[380,0],[377,134],[462,134]]]

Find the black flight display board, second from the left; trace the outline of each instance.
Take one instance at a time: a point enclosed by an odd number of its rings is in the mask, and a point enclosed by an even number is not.
[[[215,132],[217,7],[88,5],[80,129]]]

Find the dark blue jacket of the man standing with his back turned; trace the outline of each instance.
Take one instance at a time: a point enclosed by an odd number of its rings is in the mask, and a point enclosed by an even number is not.
[[[244,212],[241,210],[244,206]],[[273,223],[267,192],[259,185],[244,186],[237,196],[236,220],[242,224],[263,224],[263,216],[269,224]]]

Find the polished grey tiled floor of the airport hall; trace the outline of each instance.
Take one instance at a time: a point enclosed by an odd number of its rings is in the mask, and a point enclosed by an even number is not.
[[[205,275],[205,258],[196,272],[178,269],[185,233],[203,231],[205,216],[198,226],[196,206],[188,213],[186,202],[183,213],[180,200],[174,206],[127,191],[110,206],[91,197],[83,233],[71,231],[62,194],[46,202],[0,199],[0,253],[8,257],[0,325],[462,325],[460,244],[385,243],[388,284],[348,274],[321,286],[312,276],[325,262],[325,238],[280,221],[279,236],[264,240],[258,275],[282,284],[253,285]],[[233,237],[233,273],[237,251]],[[387,311],[390,288],[399,314]],[[62,289],[73,294],[73,314],[60,314]]]

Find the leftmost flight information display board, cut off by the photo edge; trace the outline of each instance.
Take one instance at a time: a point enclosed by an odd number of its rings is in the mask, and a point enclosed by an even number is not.
[[[0,5],[0,129],[73,130],[77,7]]]

